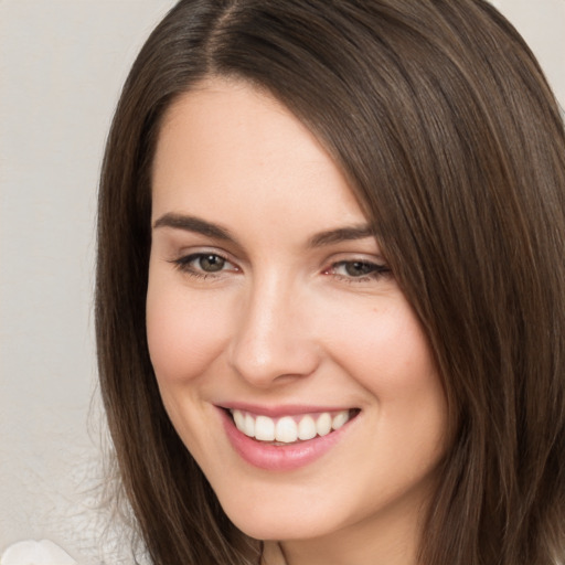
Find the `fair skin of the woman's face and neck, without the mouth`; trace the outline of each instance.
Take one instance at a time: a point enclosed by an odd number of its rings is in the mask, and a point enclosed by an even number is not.
[[[446,398],[376,239],[312,242],[366,226],[343,174],[288,109],[220,78],[169,108],[153,164],[149,350],[171,422],[225,512],[279,541],[291,565],[416,563]],[[210,271],[199,253],[225,262]],[[271,471],[228,441],[217,406],[233,402],[360,413],[319,459]]]

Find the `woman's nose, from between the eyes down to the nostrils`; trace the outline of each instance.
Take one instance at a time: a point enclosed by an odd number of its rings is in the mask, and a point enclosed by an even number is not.
[[[299,290],[282,280],[257,282],[238,312],[228,360],[242,379],[265,388],[316,371],[320,351]]]

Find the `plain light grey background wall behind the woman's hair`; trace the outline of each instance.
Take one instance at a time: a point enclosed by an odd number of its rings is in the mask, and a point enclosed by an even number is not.
[[[493,3],[565,106],[565,0]],[[99,563],[97,175],[128,67],[172,4],[0,0],[0,554],[46,537]]]

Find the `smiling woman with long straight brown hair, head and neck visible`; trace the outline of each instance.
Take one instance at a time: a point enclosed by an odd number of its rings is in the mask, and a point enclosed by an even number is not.
[[[556,103],[483,1],[179,2],[98,220],[153,562],[563,561],[564,194]]]

